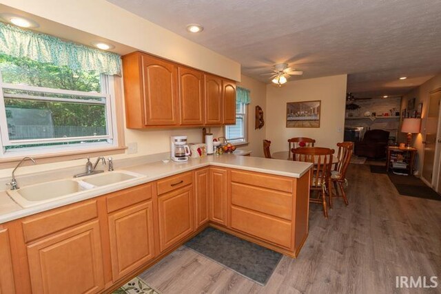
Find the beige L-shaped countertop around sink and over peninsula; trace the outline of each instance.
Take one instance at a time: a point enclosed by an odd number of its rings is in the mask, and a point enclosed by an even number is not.
[[[47,211],[67,204],[79,202],[82,200],[101,196],[106,193],[119,191],[128,187],[141,185],[145,182],[151,182],[167,176],[180,174],[184,171],[191,171],[205,166],[229,167],[233,169],[243,169],[246,171],[257,171],[265,174],[273,174],[278,176],[288,176],[291,178],[300,178],[310,168],[311,163],[294,162],[288,160],[267,159],[250,156],[236,156],[234,154],[224,154],[222,156],[205,156],[202,158],[190,158],[187,162],[163,162],[156,161],[145,163],[143,165],[135,165],[125,167],[124,170],[132,171],[142,176],[134,180],[119,182],[103,187],[96,187],[91,190],[83,191],[79,195],[54,200],[34,207],[22,208],[8,196],[6,191],[0,191],[0,223],[16,220],[30,216],[34,213]],[[38,174],[35,175],[38,177]]]

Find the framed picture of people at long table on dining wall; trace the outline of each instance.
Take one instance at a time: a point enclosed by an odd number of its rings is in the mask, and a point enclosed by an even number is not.
[[[287,103],[287,127],[320,127],[322,101]]]

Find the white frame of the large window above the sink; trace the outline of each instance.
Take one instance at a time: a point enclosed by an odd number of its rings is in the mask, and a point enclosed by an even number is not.
[[[103,98],[104,102],[100,101],[77,101],[84,104],[105,104],[105,116],[107,135],[105,136],[79,136],[70,138],[43,138],[43,139],[29,139],[29,140],[10,140],[8,135],[8,123],[6,119],[6,107],[4,103],[3,89],[11,90],[25,90],[32,92],[44,92],[50,94],[66,94],[84,97]],[[14,158],[25,155],[41,155],[41,154],[57,154],[66,151],[94,151],[95,149],[103,149],[106,147],[112,148],[118,146],[118,134],[116,132],[116,109],[115,109],[115,95],[114,95],[114,77],[101,74],[101,92],[82,92],[74,90],[62,90],[49,87],[35,87],[30,85],[3,83],[3,78],[0,73],[0,156],[2,158]],[[23,94],[8,94],[7,98],[25,98],[34,101],[60,101],[72,102],[75,99],[69,98],[52,98],[44,96],[27,96]],[[71,145],[53,145],[40,147],[24,147],[21,149],[10,149],[6,151],[6,146],[10,145],[26,145],[26,144],[41,144],[41,143],[68,143],[79,140],[98,140],[105,139],[106,142],[95,143],[79,143]]]

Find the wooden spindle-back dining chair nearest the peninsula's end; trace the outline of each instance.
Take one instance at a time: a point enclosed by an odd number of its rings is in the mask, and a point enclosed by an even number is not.
[[[294,161],[312,162],[314,168],[311,170],[312,192],[316,191],[317,198],[309,196],[309,202],[322,204],[323,214],[328,218],[326,196],[329,196],[331,188],[331,167],[334,149],[323,147],[299,147],[291,149]]]

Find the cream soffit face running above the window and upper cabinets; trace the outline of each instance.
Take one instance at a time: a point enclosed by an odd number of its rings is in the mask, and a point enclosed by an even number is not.
[[[240,63],[105,0],[1,0],[89,34],[240,81]]]

